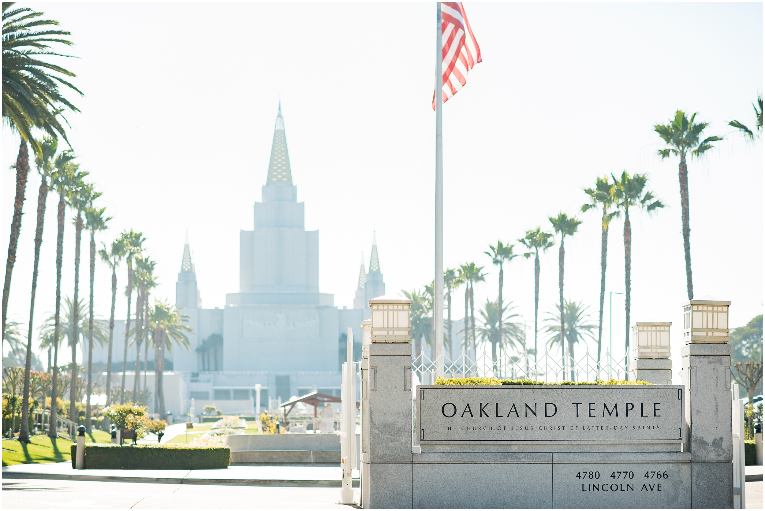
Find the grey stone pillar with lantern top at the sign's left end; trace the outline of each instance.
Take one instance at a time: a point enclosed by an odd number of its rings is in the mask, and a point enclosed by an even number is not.
[[[371,343],[369,355],[365,353],[361,361],[361,500],[365,509],[412,508],[411,303],[386,297],[369,300]]]

